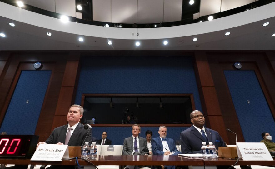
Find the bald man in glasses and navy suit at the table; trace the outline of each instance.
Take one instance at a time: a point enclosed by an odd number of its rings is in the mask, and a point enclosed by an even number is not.
[[[198,110],[192,111],[190,119],[193,125],[180,135],[183,154],[202,153],[202,142],[206,142],[207,145],[209,142],[213,142],[216,149],[226,146],[217,131],[204,127],[205,118],[202,112]]]

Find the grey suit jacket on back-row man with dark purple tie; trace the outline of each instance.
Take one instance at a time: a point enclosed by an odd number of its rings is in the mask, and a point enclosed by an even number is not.
[[[139,151],[142,155],[149,154],[146,139],[138,136]],[[125,138],[123,143],[122,155],[132,155],[133,153],[133,136]]]

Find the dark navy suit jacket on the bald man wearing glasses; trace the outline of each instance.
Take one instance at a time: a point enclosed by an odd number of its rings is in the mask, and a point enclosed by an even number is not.
[[[211,130],[210,128],[205,128],[205,132],[207,135],[207,139],[209,142],[213,142],[216,149],[219,147],[225,147],[225,143],[223,142],[219,133],[215,130]],[[192,125],[190,128],[184,130],[181,135],[181,149],[183,154],[196,154],[202,153],[201,147],[202,142],[206,142],[202,137],[201,133]]]

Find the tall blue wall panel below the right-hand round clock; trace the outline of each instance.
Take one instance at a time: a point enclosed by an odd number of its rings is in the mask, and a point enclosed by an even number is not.
[[[275,122],[254,70],[224,70],[224,75],[245,142],[261,141],[264,131],[275,135]]]

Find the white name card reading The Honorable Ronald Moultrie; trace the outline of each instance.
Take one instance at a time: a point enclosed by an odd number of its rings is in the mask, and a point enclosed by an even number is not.
[[[263,142],[237,142],[238,157],[243,160],[272,160]]]

